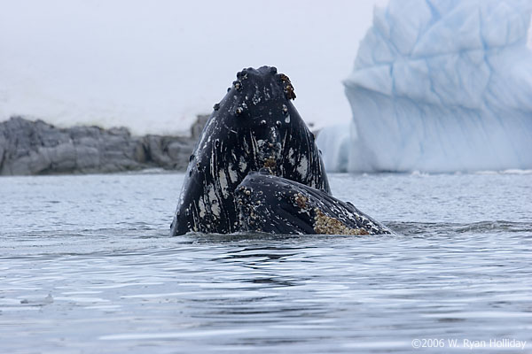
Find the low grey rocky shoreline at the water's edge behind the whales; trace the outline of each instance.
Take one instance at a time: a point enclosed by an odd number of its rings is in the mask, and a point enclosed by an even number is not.
[[[195,142],[186,136],[134,136],[123,127],[59,128],[13,117],[0,123],[0,174],[184,170]]]

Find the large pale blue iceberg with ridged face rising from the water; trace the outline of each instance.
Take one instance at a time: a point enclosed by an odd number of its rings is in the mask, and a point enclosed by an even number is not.
[[[532,168],[530,0],[390,0],[344,81],[350,127],[317,138],[329,171]],[[348,135],[348,137],[346,137]]]

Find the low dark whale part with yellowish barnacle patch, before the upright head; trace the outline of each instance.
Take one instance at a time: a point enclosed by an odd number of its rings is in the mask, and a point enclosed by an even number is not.
[[[242,231],[303,235],[391,234],[353,204],[323,190],[270,175],[249,173],[235,190]]]

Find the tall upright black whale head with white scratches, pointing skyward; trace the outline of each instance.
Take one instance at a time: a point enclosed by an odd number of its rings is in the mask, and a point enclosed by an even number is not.
[[[192,153],[170,235],[239,231],[234,189],[247,173],[271,173],[329,193],[325,167],[291,99],[288,77],[275,67],[237,73]]]

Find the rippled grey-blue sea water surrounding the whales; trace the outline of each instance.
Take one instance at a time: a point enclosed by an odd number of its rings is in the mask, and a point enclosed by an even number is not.
[[[396,235],[171,238],[183,178],[1,178],[0,352],[532,352],[532,173],[330,174]]]

